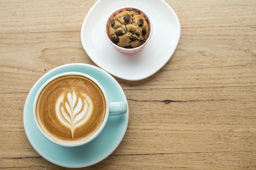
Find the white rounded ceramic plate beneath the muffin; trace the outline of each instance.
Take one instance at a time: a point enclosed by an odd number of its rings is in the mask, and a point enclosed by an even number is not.
[[[148,44],[133,54],[117,51],[104,34],[110,13],[127,6],[144,10],[153,24]],[[126,80],[145,79],[156,73],[171,58],[179,40],[180,21],[164,0],[98,0],[81,29],[81,42],[91,60],[108,73]]]

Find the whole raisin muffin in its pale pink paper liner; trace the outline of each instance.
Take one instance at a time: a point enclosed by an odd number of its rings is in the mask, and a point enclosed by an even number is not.
[[[118,48],[119,51],[133,53],[142,48],[137,47],[148,42],[152,25],[141,10],[122,8],[108,18],[105,32],[113,45],[123,48],[123,50]]]

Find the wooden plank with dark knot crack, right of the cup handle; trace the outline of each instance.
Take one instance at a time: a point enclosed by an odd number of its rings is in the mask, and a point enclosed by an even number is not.
[[[170,88],[150,90],[148,97],[148,90],[125,90],[130,121],[124,140],[113,154],[256,151],[255,92],[255,86]],[[0,141],[13,146],[1,146],[5,151],[2,157],[10,157],[10,153],[13,157],[35,153],[23,129],[24,103],[12,106],[12,101],[24,101],[26,96],[8,95],[7,103],[7,96],[0,95],[4,113]],[[9,113],[10,107],[16,109]],[[8,142],[10,132],[13,140]],[[15,146],[22,152],[15,152]]]

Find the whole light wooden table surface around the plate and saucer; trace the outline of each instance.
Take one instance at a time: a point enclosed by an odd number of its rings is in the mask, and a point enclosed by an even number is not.
[[[47,71],[68,63],[97,66],[80,39],[96,1],[1,0],[1,170],[68,169],[32,148],[23,108]],[[109,157],[83,169],[255,170],[255,0],[166,2],[180,19],[177,49],[146,79],[115,77],[130,109],[126,135]]]

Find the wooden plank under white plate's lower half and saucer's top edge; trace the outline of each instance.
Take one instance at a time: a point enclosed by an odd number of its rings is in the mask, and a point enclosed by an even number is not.
[[[118,78],[117,80],[124,89],[133,89],[134,86],[143,89],[255,86],[256,43],[253,42],[256,39],[255,32],[247,32],[251,35],[250,38],[247,38],[248,35],[239,35],[241,37],[239,42],[232,39],[233,35],[227,34],[229,40],[227,38],[222,40],[221,35],[210,32],[209,40],[200,40],[200,37],[194,40],[191,35],[183,35],[180,46],[171,60],[155,75],[136,82]],[[0,36],[2,36],[0,70],[2,77],[5,78],[0,82],[0,89],[3,89],[5,84],[12,86],[5,90],[6,93],[28,92],[43,74],[63,64],[81,62],[95,65],[84,52],[78,31],[0,34]],[[201,38],[205,36],[201,35]],[[24,78],[28,79],[28,82],[22,82]],[[24,84],[17,84],[17,79]]]

